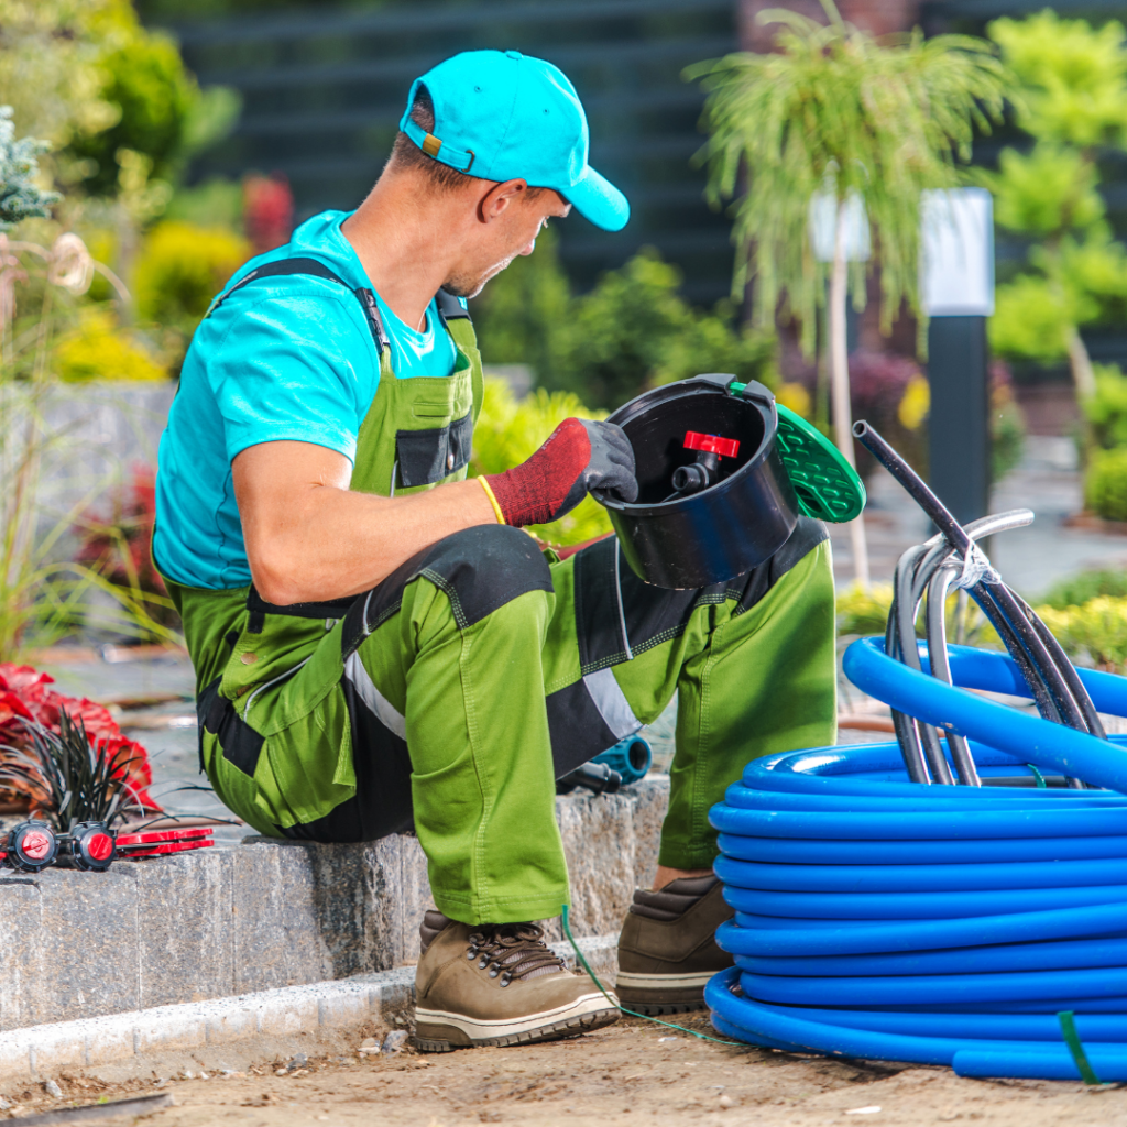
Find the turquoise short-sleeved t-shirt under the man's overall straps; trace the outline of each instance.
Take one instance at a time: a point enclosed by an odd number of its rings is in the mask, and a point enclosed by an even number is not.
[[[302,223],[277,258],[317,258],[352,289],[373,289],[340,233],[347,212]],[[432,301],[426,327],[405,325],[376,294],[397,378],[447,376],[456,349]],[[231,462],[263,442],[311,442],[356,455],[356,437],[380,383],[380,364],[360,301],[309,275],[260,278],[232,293],[201,326],[160,440],[157,531],[160,570],[189,587],[245,587],[250,568],[231,485]]]

